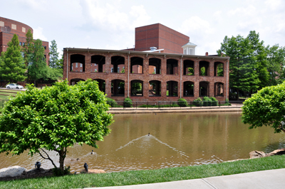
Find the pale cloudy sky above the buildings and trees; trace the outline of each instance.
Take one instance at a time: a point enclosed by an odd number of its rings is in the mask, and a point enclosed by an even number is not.
[[[33,28],[33,38],[63,48],[122,50],[135,28],[161,23],[190,37],[196,55],[214,55],[225,36],[259,33],[285,46],[284,0],[0,0],[0,16]]]

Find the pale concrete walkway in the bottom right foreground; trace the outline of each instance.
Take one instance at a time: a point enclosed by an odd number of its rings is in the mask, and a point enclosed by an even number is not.
[[[125,185],[113,187],[99,187],[103,189],[182,189],[182,188],[198,188],[198,189],[244,189],[244,188],[274,188],[283,189],[285,168],[257,171],[252,173],[241,173],[237,175],[224,175],[209,178],[199,178],[193,180],[181,180],[167,183],[152,183],[144,185]]]

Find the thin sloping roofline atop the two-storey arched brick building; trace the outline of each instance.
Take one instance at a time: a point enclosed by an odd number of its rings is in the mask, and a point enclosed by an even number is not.
[[[94,49],[94,48],[63,48],[68,52],[86,52],[86,53],[126,53],[126,54],[137,54],[137,55],[161,55],[161,56],[176,56],[176,57],[187,57],[187,58],[203,58],[203,59],[219,59],[229,60],[229,57],[219,56],[206,56],[206,55],[184,55],[184,54],[172,54],[172,53],[150,53],[135,50],[108,50],[108,49]]]

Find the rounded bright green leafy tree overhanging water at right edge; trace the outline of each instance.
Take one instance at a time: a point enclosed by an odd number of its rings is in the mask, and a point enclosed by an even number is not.
[[[275,133],[285,132],[285,82],[264,87],[244,102],[242,121],[249,129],[271,126]]]

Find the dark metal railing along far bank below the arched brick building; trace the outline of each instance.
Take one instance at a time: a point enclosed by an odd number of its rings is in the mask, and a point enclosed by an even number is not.
[[[108,101],[110,109],[202,109],[242,107],[242,101]]]

